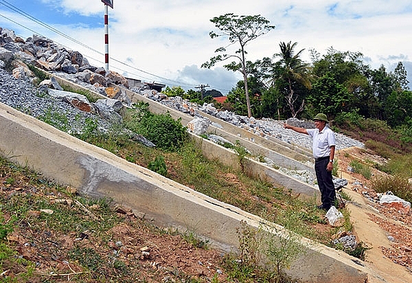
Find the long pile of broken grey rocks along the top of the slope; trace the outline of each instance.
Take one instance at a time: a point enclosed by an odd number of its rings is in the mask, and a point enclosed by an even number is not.
[[[12,60],[12,58],[19,60]],[[3,67],[5,67],[4,65],[8,62],[12,62],[14,65],[12,69],[15,78],[30,78],[34,76],[26,65],[31,64],[50,73],[55,73],[66,80],[80,84],[83,87],[87,87],[91,91],[100,93],[107,98],[119,100],[126,105],[131,104],[130,98],[127,97],[126,93],[121,88],[116,87],[116,85],[119,85],[126,89],[128,88],[128,80],[124,76],[119,75],[119,73],[114,71],[106,73],[101,67],[93,67],[89,64],[87,58],[84,58],[79,52],[68,50],[48,38],[33,35],[31,38],[24,40],[16,36],[11,30],[0,27],[0,64],[3,63]],[[56,89],[53,85],[49,87]],[[312,147],[310,137],[285,130],[283,128],[284,121],[271,119],[256,120],[253,117],[236,115],[230,111],[218,111],[214,104],[205,103],[198,105],[183,100],[180,97],[168,98],[167,95],[148,89],[145,86],[134,87],[130,90],[194,117],[204,119],[203,113],[207,113],[225,122],[240,126],[261,137],[275,137],[290,144],[303,146],[308,148],[308,150]],[[197,123],[202,124],[203,128],[205,128],[206,122]],[[296,119],[290,119],[287,122],[305,127],[311,127],[312,124],[311,122],[303,122]],[[212,125],[220,126],[216,123]],[[362,148],[363,144],[336,133],[336,149],[339,150],[351,146]]]

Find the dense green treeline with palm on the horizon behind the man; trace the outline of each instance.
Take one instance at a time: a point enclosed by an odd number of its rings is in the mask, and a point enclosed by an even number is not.
[[[310,50],[312,63],[295,54],[297,43],[280,43],[273,58],[248,62],[248,85],[253,117],[310,119],[316,113],[330,120],[341,115],[387,122],[391,127],[412,124],[412,92],[402,62],[393,72],[382,65],[371,69],[359,52],[327,54]],[[243,82],[227,95],[223,107],[246,115]]]

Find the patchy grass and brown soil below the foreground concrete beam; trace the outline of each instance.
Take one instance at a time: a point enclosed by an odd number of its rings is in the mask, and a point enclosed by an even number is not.
[[[3,158],[0,181],[0,282],[205,282],[177,268],[170,275],[168,269],[141,267],[144,261],[122,247],[150,246],[172,234],[116,213],[110,199],[79,196]],[[127,227],[130,237],[120,242],[115,227]],[[182,234],[183,240],[191,249],[206,249],[209,242],[194,232]],[[150,242],[139,234],[150,235]]]

